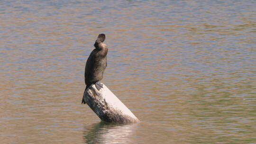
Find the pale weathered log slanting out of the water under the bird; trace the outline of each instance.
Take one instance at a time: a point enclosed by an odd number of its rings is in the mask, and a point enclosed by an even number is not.
[[[83,94],[87,105],[103,121],[119,123],[136,123],[138,118],[103,84],[97,90],[92,84]]]

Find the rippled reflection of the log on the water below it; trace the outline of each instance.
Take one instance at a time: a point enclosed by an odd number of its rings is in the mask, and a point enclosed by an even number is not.
[[[132,144],[132,135],[139,126],[137,124],[117,124],[99,122],[84,126],[85,144]]]

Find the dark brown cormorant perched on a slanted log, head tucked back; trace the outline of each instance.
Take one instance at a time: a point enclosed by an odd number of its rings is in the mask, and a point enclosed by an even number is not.
[[[100,90],[103,85],[99,81],[103,78],[103,73],[107,67],[107,54],[108,46],[103,44],[106,36],[105,34],[100,34],[95,41],[95,49],[91,52],[90,56],[87,59],[85,64],[84,71],[84,81],[86,88],[89,88],[91,84],[95,84],[96,88]],[[85,92],[84,90],[84,92]],[[85,104],[85,101],[82,98],[82,104]]]

